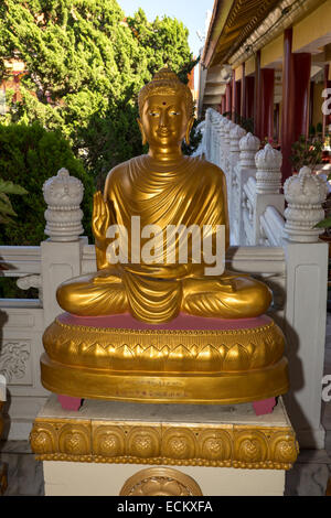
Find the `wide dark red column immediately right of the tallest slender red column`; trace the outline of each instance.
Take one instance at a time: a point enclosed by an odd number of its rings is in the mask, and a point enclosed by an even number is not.
[[[311,54],[293,54],[295,73],[295,116],[293,142],[300,134],[308,138],[309,133],[309,105],[310,105],[310,71]]]

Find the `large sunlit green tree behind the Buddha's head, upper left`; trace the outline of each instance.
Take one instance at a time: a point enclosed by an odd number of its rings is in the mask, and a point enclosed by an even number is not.
[[[2,74],[13,56],[28,73],[7,119],[61,130],[100,180],[143,152],[135,121],[143,84],[166,64],[182,78],[195,64],[181,22],[148,22],[141,9],[125,21],[116,0],[3,0]]]

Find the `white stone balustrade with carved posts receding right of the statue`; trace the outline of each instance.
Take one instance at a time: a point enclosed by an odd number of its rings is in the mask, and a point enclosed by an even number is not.
[[[206,125],[215,120],[211,118]],[[239,247],[241,257],[249,255],[252,269],[246,260],[229,267],[257,277],[260,271],[271,285],[273,316],[277,315],[288,342],[291,382],[286,397],[288,411],[301,445],[323,447],[320,416],[329,253],[328,245],[319,240],[321,230],[316,224],[324,216],[327,183],[303,168],[286,181],[284,195],[281,153],[270,144],[258,151],[259,140],[247,133],[239,140],[238,154],[238,132],[237,125],[221,119],[217,165],[227,180],[231,242]],[[207,149],[211,144],[206,141],[205,145]],[[266,256],[255,270],[254,260],[261,249]],[[274,270],[278,253],[282,255],[284,273],[267,274],[267,265]]]

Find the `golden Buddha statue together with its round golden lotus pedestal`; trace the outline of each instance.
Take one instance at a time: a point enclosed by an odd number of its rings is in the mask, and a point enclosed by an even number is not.
[[[181,152],[193,125],[190,89],[162,69],[140,90],[139,110],[149,152],[114,168],[104,196],[94,196],[98,271],[57,290],[66,313],[43,335],[43,386],[74,398],[157,403],[285,393],[284,335],[264,315],[269,289],[218,268],[220,228],[228,247],[224,174]],[[195,246],[196,230],[210,255]]]

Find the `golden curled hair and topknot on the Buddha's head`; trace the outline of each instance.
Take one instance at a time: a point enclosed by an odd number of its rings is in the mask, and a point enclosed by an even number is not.
[[[145,85],[138,95],[139,112],[141,115],[142,107],[148,97],[153,95],[171,95],[181,94],[185,100],[186,112],[189,117],[193,116],[193,97],[190,88],[184,85],[178,75],[170,68],[161,68],[157,72],[149,83]]]

